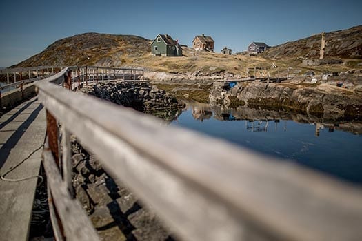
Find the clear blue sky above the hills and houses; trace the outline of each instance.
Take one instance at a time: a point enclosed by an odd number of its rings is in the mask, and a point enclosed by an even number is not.
[[[2,0],[0,18],[0,67],[7,67],[84,32],[170,34],[185,45],[204,33],[217,52],[240,52],[252,41],[278,45],[361,25],[362,1]]]

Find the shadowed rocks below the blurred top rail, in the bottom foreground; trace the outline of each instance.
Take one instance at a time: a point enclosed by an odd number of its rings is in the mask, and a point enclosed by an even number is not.
[[[172,240],[155,213],[141,207],[133,193],[114,182],[74,137],[72,164],[75,196],[101,240]]]

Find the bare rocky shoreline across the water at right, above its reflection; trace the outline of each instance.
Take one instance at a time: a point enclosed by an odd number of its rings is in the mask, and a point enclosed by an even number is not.
[[[210,105],[248,106],[261,109],[288,108],[323,118],[362,119],[362,94],[322,83],[214,83]]]

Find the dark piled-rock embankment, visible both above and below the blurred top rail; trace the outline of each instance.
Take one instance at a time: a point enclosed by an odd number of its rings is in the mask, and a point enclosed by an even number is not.
[[[83,89],[93,96],[172,120],[183,103],[148,83],[108,82]],[[103,170],[97,158],[72,140],[73,187],[102,240],[172,240],[156,215]]]

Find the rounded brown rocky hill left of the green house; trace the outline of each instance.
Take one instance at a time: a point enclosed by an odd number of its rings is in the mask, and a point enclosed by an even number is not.
[[[17,64],[39,65],[122,65],[130,58],[150,52],[150,40],[133,35],[86,33],[55,41],[43,52]]]

